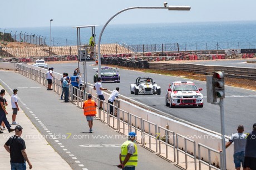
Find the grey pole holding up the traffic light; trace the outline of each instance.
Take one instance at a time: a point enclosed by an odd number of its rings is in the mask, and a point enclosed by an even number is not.
[[[221,146],[222,146],[222,160],[221,169],[226,170],[226,142],[225,142],[225,120],[224,120],[224,100],[220,98],[220,126],[221,126]]]

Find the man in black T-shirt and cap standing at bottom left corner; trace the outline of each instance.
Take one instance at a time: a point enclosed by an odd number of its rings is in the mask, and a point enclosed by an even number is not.
[[[32,164],[27,157],[25,141],[21,138],[22,129],[20,125],[16,126],[14,128],[15,135],[10,137],[4,144],[4,148],[10,153],[11,169],[26,169],[26,161],[29,169],[32,168]]]

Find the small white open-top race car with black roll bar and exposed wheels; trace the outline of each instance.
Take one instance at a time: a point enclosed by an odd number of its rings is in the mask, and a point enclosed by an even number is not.
[[[161,87],[157,86],[151,78],[137,78],[136,83],[131,84],[131,94],[135,95],[161,95]]]

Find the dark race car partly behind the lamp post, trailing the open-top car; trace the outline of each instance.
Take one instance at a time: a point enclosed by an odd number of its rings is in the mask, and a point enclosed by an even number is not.
[[[117,68],[101,68],[101,82],[102,83],[120,83],[120,74],[117,73]],[[98,70],[93,76],[93,82],[96,83],[98,78]]]

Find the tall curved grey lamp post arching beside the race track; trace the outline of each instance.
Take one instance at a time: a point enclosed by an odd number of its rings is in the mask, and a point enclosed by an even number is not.
[[[167,3],[166,3],[167,4]],[[101,54],[100,54],[100,42],[101,42],[101,37],[102,33],[104,32],[104,29],[106,28],[107,24],[115,18],[118,14],[130,10],[130,9],[168,9],[169,11],[190,11],[189,6],[169,6],[167,7],[166,4],[164,4],[164,7],[130,7],[130,8],[125,8],[122,9],[121,11],[117,12],[114,16],[112,16],[104,25],[104,27],[101,30],[100,36],[99,36],[99,41],[98,41],[98,76],[101,76]]]

